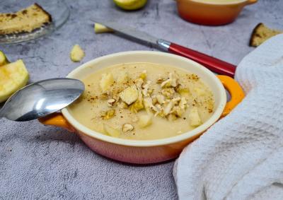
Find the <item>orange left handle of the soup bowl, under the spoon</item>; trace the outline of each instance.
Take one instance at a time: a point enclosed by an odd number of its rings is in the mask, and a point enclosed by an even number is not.
[[[55,112],[53,114],[48,114],[45,117],[41,117],[38,119],[40,123],[45,125],[52,125],[55,127],[62,127],[64,129],[67,129],[68,131],[74,132],[74,127],[67,122],[67,120],[64,118],[63,114],[61,112]]]

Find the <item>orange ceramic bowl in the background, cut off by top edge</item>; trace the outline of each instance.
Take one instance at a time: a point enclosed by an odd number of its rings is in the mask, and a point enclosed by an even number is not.
[[[258,0],[176,0],[181,18],[202,25],[224,25],[238,17],[243,7]]]

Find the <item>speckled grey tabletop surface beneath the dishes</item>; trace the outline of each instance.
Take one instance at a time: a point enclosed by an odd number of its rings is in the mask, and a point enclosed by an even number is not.
[[[80,64],[69,59],[78,43],[86,50],[81,63],[115,52],[148,50],[112,34],[95,35],[91,17],[110,18],[238,64],[253,27],[263,22],[283,30],[283,1],[259,0],[230,25],[187,23],[172,0],[149,0],[140,11],[125,12],[104,1],[67,1],[71,16],[52,35],[18,45],[0,45],[12,61],[23,59],[30,81],[64,77]],[[1,3],[0,3],[1,5]],[[155,49],[151,49],[155,50]],[[0,199],[177,199],[173,162],[136,166],[93,153],[75,134],[33,122],[0,119]]]

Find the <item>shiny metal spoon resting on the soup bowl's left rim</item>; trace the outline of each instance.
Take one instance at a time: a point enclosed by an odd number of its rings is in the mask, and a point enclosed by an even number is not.
[[[32,83],[14,93],[2,109],[0,118],[23,122],[62,110],[83,93],[84,84],[72,78],[51,78]]]

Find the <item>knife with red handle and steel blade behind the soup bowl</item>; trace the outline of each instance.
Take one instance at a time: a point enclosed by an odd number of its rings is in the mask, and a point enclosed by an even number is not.
[[[112,21],[110,22],[108,20],[101,20],[101,19],[93,19],[93,21],[95,23],[100,23],[114,30],[115,33],[118,33],[118,35],[120,34],[122,36],[128,37],[129,39],[138,40],[139,42],[143,42],[146,45],[152,45],[154,47],[161,48],[166,52],[178,54],[182,57],[192,59],[193,61],[196,61],[199,64],[202,64],[203,66],[207,67],[207,69],[214,71],[215,73],[219,73],[219,74],[223,74],[223,75],[231,76],[231,77],[235,75],[236,66],[233,64],[229,64],[226,61],[216,59],[207,54],[197,52],[193,49],[189,49],[187,47],[177,45],[167,40],[158,39],[152,35],[141,32],[137,29],[125,27],[117,23],[114,23]]]

